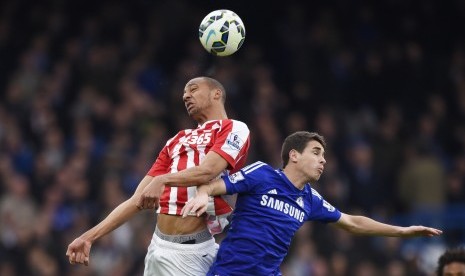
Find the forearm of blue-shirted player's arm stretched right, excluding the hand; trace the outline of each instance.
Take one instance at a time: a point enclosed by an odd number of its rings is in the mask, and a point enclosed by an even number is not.
[[[350,216],[349,223],[339,226],[353,234],[388,237],[400,237],[404,229],[404,227],[381,223],[364,216]]]

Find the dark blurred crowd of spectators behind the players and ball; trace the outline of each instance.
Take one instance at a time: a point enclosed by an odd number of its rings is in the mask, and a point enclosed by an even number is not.
[[[217,58],[197,35],[221,8],[247,36]],[[66,247],[195,127],[181,98],[200,75],[249,125],[249,162],[280,166],[288,134],[318,131],[328,163],[314,186],[329,202],[444,230],[402,240],[308,223],[284,275],[432,275],[465,243],[464,26],[463,0],[2,1],[0,275],[142,275],[153,212],[95,243],[89,267]]]

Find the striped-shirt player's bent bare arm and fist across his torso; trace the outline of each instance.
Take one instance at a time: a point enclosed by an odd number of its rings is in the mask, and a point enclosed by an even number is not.
[[[227,167],[228,162],[221,155],[210,151],[198,166],[154,177],[140,194],[137,206],[142,209],[156,209],[165,185],[202,185],[217,177]]]

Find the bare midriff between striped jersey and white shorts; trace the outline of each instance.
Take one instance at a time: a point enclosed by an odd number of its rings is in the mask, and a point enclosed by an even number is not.
[[[201,232],[207,228],[204,216],[194,217],[158,214],[157,227],[165,235],[187,235]]]

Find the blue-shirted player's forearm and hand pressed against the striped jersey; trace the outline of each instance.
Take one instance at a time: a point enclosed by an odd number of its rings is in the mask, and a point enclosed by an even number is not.
[[[226,185],[223,179],[214,180],[208,184],[197,188],[197,195],[189,200],[181,210],[182,217],[185,218],[189,214],[195,214],[200,217],[207,211],[209,196],[226,194]]]

